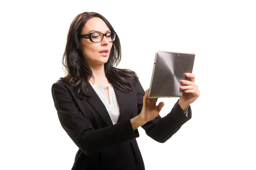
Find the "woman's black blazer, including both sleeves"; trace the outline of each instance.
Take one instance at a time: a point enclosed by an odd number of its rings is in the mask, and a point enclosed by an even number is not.
[[[90,86],[91,98],[76,97],[74,89],[65,82],[52,85],[52,97],[61,126],[79,147],[72,170],[144,170],[143,159],[136,141],[138,130],[133,130],[130,119],[143,107],[145,91],[138,81],[133,91],[123,93],[114,88],[120,116],[113,125],[105,105]],[[166,142],[191,118],[175,103],[165,117],[157,116],[143,125],[146,134],[157,142]]]

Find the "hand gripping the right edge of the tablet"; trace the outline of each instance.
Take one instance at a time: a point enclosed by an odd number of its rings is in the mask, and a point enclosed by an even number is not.
[[[189,105],[192,102],[195,102],[195,100],[200,96],[198,85],[195,84],[195,75],[192,73],[186,73],[186,77],[190,78],[190,81],[180,80],[180,89],[183,92],[183,97],[180,97],[179,105],[183,111],[186,111],[189,108]]]

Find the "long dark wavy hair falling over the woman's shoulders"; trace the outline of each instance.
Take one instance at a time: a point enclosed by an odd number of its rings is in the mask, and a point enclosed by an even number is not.
[[[70,25],[67,35],[67,45],[63,54],[62,63],[67,70],[67,76],[61,77],[58,81],[64,81],[74,87],[76,95],[80,99],[89,97],[88,84],[89,79],[93,76],[92,70],[84,62],[79,47],[79,34],[87,20],[92,17],[101,18],[111,31],[114,31],[108,20],[96,12],[84,12],[75,17]],[[115,68],[121,59],[121,45],[118,35],[113,41],[108,62],[104,64],[105,75],[108,81],[118,90],[129,92],[132,90],[131,82],[136,83],[137,74],[128,69]],[[135,81],[134,81],[135,80]]]

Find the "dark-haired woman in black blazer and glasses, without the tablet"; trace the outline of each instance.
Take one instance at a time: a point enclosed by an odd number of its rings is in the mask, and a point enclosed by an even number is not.
[[[52,85],[61,125],[79,147],[72,170],[143,170],[137,128],[163,143],[191,118],[189,105],[200,95],[193,74],[181,82],[187,96],[161,118],[164,103],[148,98],[133,71],[115,68],[120,59],[105,17],[84,12],[73,20],[63,56],[68,75]]]

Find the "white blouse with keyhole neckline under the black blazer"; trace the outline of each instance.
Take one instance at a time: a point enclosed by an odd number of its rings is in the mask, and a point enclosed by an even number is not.
[[[115,125],[118,121],[120,111],[119,111],[119,105],[116,99],[116,94],[114,91],[114,88],[111,84],[103,84],[103,85],[94,85],[91,84],[94,91],[96,91],[96,94],[98,94],[99,98],[102,100],[103,104],[105,105],[109,116],[113,122],[113,125]],[[108,102],[108,97],[105,94],[105,91],[103,89],[104,86],[108,86],[108,94],[110,99],[110,104]]]

